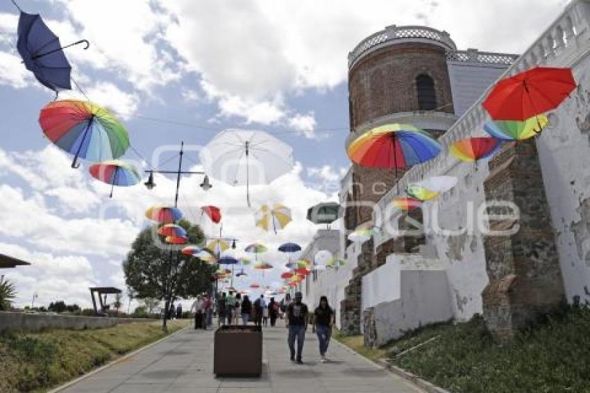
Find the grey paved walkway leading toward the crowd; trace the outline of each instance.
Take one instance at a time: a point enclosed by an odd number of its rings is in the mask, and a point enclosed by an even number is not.
[[[288,358],[284,326],[264,329],[264,367],[260,378],[215,378],[213,332],[185,330],[107,367],[62,392],[320,393],[421,392],[332,341],[319,362],[317,337],[308,331],[304,365]]]

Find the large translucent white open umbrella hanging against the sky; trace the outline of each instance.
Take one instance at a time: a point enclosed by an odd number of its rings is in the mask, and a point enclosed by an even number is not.
[[[200,153],[205,172],[231,185],[267,184],[293,167],[293,149],[264,131],[228,129],[217,134]]]

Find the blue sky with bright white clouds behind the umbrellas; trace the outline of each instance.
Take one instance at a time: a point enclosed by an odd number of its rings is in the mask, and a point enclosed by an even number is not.
[[[196,153],[226,128],[267,131],[294,149],[291,172],[251,190],[185,176],[179,207],[205,228],[199,206],[220,206],[224,236],[267,245],[259,258],[276,269],[250,279],[278,285],[283,242],[303,248],[317,229],[308,207],[337,200],[348,169],[347,55],[364,37],[389,25],[445,30],[459,49],[522,53],[562,11],[564,0],[22,0],[40,13],[67,49],[72,78],[87,97],[126,125],[125,160],[140,169],[176,169],[181,141],[185,170],[201,169]],[[534,12],[533,12],[534,10]],[[526,15],[526,17],[523,17]],[[149,225],[144,211],[174,202],[176,179],[157,187],[110,187],[71,169],[71,156],[44,138],[37,122],[53,92],[35,81],[15,50],[17,9],[0,0],[0,253],[28,260],[4,269],[17,287],[17,306],[64,300],[90,307],[88,287],[125,289],[121,261]],[[80,92],[60,98],[81,98]],[[283,203],[293,221],[278,234],[254,225],[255,206]],[[237,281],[235,287],[246,287]],[[124,304],[127,304],[124,301]],[[185,305],[188,305],[188,301]],[[124,309],[126,309],[124,307]]]

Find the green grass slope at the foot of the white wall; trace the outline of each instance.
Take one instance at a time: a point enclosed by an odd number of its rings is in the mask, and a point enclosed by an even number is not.
[[[353,349],[362,346],[362,337],[346,340]],[[565,310],[503,345],[492,340],[481,317],[474,317],[426,326],[378,350],[362,351],[369,358],[390,358],[450,392],[590,392],[590,309]]]

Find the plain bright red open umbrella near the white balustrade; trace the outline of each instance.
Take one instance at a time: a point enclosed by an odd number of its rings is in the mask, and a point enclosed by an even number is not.
[[[575,87],[569,68],[534,67],[496,83],[482,105],[494,120],[522,122],[557,108]]]

